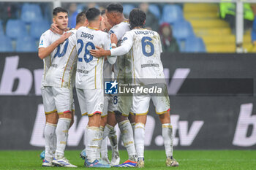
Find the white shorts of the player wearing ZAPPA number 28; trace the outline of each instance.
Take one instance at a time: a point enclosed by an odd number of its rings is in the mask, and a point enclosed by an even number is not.
[[[102,89],[80,89],[76,88],[81,114],[92,116],[102,114],[104,96]]]

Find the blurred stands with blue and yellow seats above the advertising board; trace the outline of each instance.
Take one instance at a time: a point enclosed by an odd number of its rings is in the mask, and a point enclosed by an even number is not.
[[[16,0],[0,1],[0,36],[1,52],[35,52],[39,36],[47,30],[51,23],[53,7],[65,7],[69,10],[69,26],[75,26],[78,12],[89,7],[104,9],[110,1],[67,1],[67,0]],[[147,11],[147,26],[159,31],[162,23],[173,28],[179,51],[184,53],[234,53],[256,51],[252,47],[252,24],[242,27],[243,11],[255,12],[256,1],[222,1],[222,0],[162,0],[162,1],[119,1],[124,5],[124,14],[134,7]],[[237,20],[236,31],[232,31],[227,21],[221,17],[221,3],[233,3]],[[243,8],[249,3],[251,9]],[[229,14],[227,12],[227,14]],[[253,16],[252,16],[253,17]],[[249,18],[253,22],[254,18]],[[251,22],[251,23],[252,23]],[[24,43],[19,43],[23,39]],[[36,43],[35,43],[36,42]],[[175,52],[177,50],[174,50]]]

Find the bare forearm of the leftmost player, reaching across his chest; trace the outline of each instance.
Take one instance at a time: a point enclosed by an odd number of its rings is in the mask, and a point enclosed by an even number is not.
[[[39,58],[41,58],[41,59],[46,58],[48,55],[50,55],[50,53],[53,52],[53,50],[56,47],[58,47],[59,44],[64,42],[71,34],[72,34],[72,32],[65,33],[59,39],[57,39],[55,42],[53,42],[51,45],[49,45],[48,47],[40,47],[38,49]]]

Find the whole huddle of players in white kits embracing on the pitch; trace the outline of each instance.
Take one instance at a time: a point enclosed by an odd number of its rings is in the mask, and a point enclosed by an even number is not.
[[[89,116],[86,148],[80,152],[86,167],[144,167],[145,124],[151,99],[162,123],[166,166],[178,166],[173,158],[170,100],[165,83],[160,81],[165,79],[160,60],[162,45],[156,31],[143,28],[145,22],[142,10],[132,9],[128,21],[121,4],[113,3],[102,12],[97,8],[80,12],[76,27],[68,31],[67,10],[53,9],[54,26],[40,37],[38,53],[44,61],[42,99],[46,123],[42,166],[77,167],[64,157],[75,114],[74,86],[81,114]],[[165,93],[104,96],[104,80],[112,79],[147,87],[163,83]],[[121,164],[116,124],[129,157]],[[107,136],[112,147],[111,161]]]

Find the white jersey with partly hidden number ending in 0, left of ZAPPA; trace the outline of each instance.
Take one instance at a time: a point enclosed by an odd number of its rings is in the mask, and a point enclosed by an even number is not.
[[[75,80],[75,69],[77,65],[76,33],[72,29],[72,34],[61,43],[53,55],[53,61],[45,76],[45,86],[59,88],[73,88]],[[69,32],[69,31],[68,31]]]

